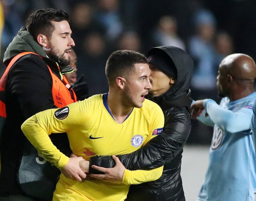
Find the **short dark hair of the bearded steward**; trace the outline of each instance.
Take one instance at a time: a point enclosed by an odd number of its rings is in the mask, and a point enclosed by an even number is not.
[[[61,22],[67,20],[69,16],[65,11],[47,8],[33,12],[27,20],[27,30],[34,37],[37,38],[38,34],[44,34],[47,37],[52,37],[54,26],[52,21]]]

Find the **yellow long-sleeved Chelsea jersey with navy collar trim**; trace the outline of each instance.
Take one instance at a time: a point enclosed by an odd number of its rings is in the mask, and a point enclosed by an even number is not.
[[[92,96],[60,109],[42,111],[26,120],[22,131],[42,156],[62,169],[69,158],[48,137],[51,133],[68,134],[70,148],[85,160],[97,155],[129,154],[161,133],[164,115],[161,108],[145,100],[141,108],[133,108],[123,123],[116,123],[108,109],[107,95]],[[42,143],[43,142],[43,143]],[[93,179],[82,182],[61,174],[53,200],[124,200],[128,184],[158,179],[163,167],[153,170],[126,170],[123,183]],[[132,172],[134,172],[132,177]]]

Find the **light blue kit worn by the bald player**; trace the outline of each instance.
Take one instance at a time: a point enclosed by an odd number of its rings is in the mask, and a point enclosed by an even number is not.
[[[213,126],[213,137],[197,201],[254,200],[256,163],[250,123],[255,98],[256,92],[232,102],[228,97],[222,98],[220,105],[205,100],[205,111],[197,119]]]

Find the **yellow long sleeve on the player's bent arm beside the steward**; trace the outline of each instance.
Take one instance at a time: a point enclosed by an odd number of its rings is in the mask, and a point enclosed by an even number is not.
[[[83,107],[81,103],[74,103],[65,107],[69,110],[69,114],[65,119],[55,117],[55,112],[61,109],[45,110],[28,118],[21,125],[21,130],[30,143],[36,147],[37,151],[47,161],[54,164],[59,169],[62,169],[68,163],[69,158],[53,145],[49,135],[51,133],[68,132],[81,126],[84,117],[84,115],[80,114],[81,110],[79,109],[81,107]],[[77,110],[75,111],[75,109]],[[73,118],[74,115],[76,115],[76,118]]]

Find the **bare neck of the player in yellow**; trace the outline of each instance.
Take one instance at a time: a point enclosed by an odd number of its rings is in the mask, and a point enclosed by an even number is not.
[[[108,93],[107,103],[113,118],[118,124],[123,123],[132,111],[132,107],[124,106],[121,102],[121,97],[116,95],[116,93],[111,92],[110,90]]]

